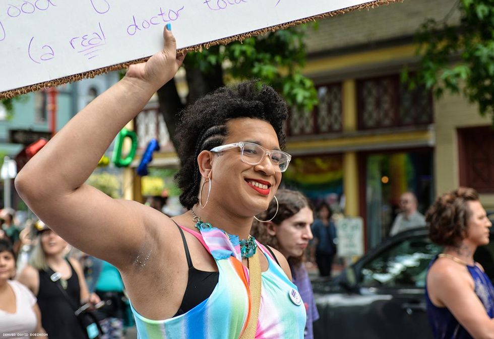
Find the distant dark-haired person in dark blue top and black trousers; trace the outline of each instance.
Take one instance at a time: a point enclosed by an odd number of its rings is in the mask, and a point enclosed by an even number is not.
[[[336,255],[336,226],[333,211],[326,202],[318,206],[317,217],[312,224],[314,240],[311,245],[311,261],[316,261],[321,277],[331,277],[333,259]]]

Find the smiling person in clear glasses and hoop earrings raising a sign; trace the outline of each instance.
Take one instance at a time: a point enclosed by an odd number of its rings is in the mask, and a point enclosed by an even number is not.
[[[84,183],[182,63],[169,26],[163,35],[162,51],[131,65],[29,161],[17,190],[61,237],[119,269],[141,337],[300,339],[305,309],[286,259],[249,235],[291,159],[281,151],[286,104],[272,88],[219,89],[182,113],[177,181],[187,213],[170,219]]]

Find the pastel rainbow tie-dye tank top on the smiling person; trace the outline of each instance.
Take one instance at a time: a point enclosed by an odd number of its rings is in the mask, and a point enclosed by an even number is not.
[[[219,279],[213,292],[188,312],[166,320],[150,320],[134,308],[139,339],[237,339],[251,316],[249,270],[241,261],[237,236],[217,228],[201,229],[196,236],[218,266]],[[261,301],[256,339],[302,339],[305,307],[297,287],[288,279],[269,251],[258,250],[269,267],[261,274]]]

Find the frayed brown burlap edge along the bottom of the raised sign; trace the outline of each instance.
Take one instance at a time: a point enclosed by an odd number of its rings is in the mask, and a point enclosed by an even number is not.
[[[263,34],[266,34],[268,32],[274,32],[274,31],[277,31],[280,29],[293,27],[293,26],[304,24],[304,23],[311,22],[311,21],[314,22],[318,19],[333,17],[336,15],[352,12],[355,10],[370,9],[370,8],[374,8],[374,7],[379,6],[379,5],[388,5],[388,4],[396,3],[396,2],[402,2],[402,0],[375,0],[375,1],[372,1],[369,3],[360,4],[360,5],[344,8],[341,10],[336,10],[336,11],[316,15],[313,17],[295,20],[295,21],[287,22],[284,24],[276,25],[276,26],[266,27],[266,28],[259,29],[259,30],[253,31],[253,32],[238,34],[238,35],[230,36],[227,38],[218,39],[215,41],[205,42],[205,43],[202,43],[199,45],[181,48],[177,52],[178,53],[186,53],[186,52],[192,52],[192,51],[202,51],[203,48],[207,49],[211,46],[220,45],[220,44],[226,45],[226,44],[233,42],[233,41],[243,41],[243,40],[248,39],[248,38],[253,37],[253,36],[263,35]],[[67,77],[63,77],[63,78],[45,81],[45,82],[34,84],[34,85],[16,88],[16,89],[5,91],[5,92],[0,92],[0,99],[9,99],[9,98],[13,98],[13,97],[16,97],[18,95],[21,95],[21,94],[26,94],[26,93],[33,92],[33,91],[39,91],[39,90],[49,88],[49,87],[56,87],[59,85],[79,81],[82,79],[94,78],[95,76],[100,75],[100,74],[104,74],[104,73],[108,73],[108,72],[112,72],[112,71],[117,71],[120,69],[125,69],[125,68],[129,67],[131,64],[144,62],[149,58],[150,58],[150,56],[145,57],[145,58],[132,60],[132,61],[122,62],[119,64],[114,64],[111,66],[102,67],[102,68],[97,69],[97,70],[83,72],[83,73],[79,73],[79,74],[75,74],[75,75],[71,75],[71,76],[67,76]]]

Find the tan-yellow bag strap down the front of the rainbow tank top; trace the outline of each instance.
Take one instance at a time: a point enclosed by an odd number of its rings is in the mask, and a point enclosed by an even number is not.
[[[240,339],[254,339],[256,336],[259,305],[261,302],[261,262],[259,248],[249,259],[249,289],[251,290],[251,317]]]

